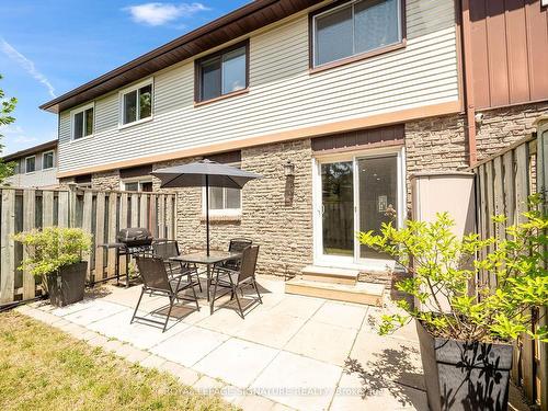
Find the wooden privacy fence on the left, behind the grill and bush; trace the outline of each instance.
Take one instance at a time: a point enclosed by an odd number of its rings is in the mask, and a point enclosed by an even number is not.
[[[147,227],[156,238],[175,238],[175,195],[96,190],[27,190],[1,187],[0,304],[34,298],[39,289],[30,273],[18,270],[24,250],[12,240],[16,232],[50,226],[79,227],[93,237],[88,281],[112,276],[115,250],[96,244],[114,242],[119,229]],[[125,264],[121,264],[121,270]]]

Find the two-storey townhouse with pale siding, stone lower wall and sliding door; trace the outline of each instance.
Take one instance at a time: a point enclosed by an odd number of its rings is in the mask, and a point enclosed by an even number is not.
[[[539,0],[259,0],[42,109],[61,183],[156,191],[155,169],[237,164],[264,178],[213,189],[214,247],[249,237],[269,274],[383,271],[355,232],[403,224],[411,174],[464,170],[548,113],[547,27]],[[178,196],[183,248],[203,247],[203,196]]]

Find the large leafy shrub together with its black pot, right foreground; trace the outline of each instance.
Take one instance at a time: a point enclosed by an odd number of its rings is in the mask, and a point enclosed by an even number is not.
[[[506,410],[512,341],[522,333],[548,341],[546,327],[532,327],[532,311],[548,305],[548,217],[539,204],[533,197],[504,239],[457,238],[447,214],[358,235],[412,274],[396,286],[414,300],[398,300],[400,310],[381,317],[379,333],[415,320],[432,410]],[[493,225],[506,220],[495,216]]]

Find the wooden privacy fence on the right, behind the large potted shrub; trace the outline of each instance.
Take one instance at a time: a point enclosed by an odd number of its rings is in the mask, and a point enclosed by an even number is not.
[[[525,219],[522,213],[527,209],[527,197],[546,193],[547,141],[548,133],[546,136],[539,134],[538,138],[534,134],[472,168],[476,174],[477,228],[483,238],[506,236],[504,226],[495,228],[492,216],[505,215],[507,226],[522,222]],[[484,272],[478,282],[494,287],[496,276]],[[534,317],[538,318],[539,312],[545,310],[539,307]],[[538,321],[534,321],[534,327],[538,327]],[[546,343],[534,343],[530,338],[523,335],[515,345],[512,370],[514,381],[523,386],[530,400],[541,403],[543,410],[548,410],[546,355]]]

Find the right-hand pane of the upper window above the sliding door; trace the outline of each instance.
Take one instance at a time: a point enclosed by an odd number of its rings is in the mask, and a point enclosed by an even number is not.
[[[355,53],[369,52],[400,38],[398,1],[366,0],[354,9]]]

